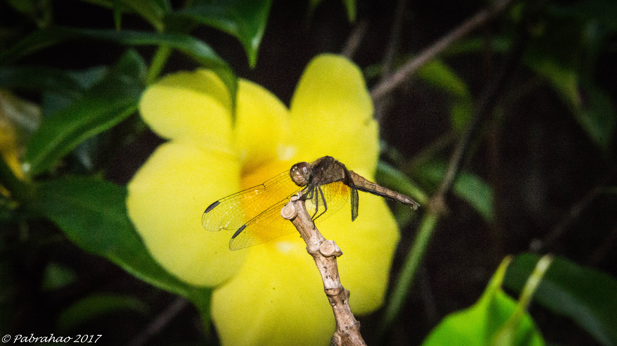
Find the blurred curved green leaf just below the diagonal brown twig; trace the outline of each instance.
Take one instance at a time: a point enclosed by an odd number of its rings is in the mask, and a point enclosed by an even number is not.
[[[463,131],[471,119],[473,110],[473,97],[463,79],[439,59],[433,59],[420,66],[416,76],[453,96],[450,123],[455,131]]]

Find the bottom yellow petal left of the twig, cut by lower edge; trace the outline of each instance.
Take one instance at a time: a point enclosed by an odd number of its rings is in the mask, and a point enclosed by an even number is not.
[[[315,262],[297,234],[275,243],[250,247],[238,275],[214,291],[221,344],[329,345],[334,316]]]

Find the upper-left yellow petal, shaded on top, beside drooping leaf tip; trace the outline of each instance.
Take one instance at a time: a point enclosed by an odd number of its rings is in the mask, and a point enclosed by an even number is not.
[[[212,71],[165,76],[144,92],[139,111],[165,139],[193,137],[202,148],[231,152],[230,96]]]

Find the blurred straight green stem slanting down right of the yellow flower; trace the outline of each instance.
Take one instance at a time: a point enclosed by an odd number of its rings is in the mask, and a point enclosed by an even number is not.
[[[424,252],[426,252],[428,241],[431,239],[433,230],[437,225],[437,219],[439,219],[439,217],[433,212],[427,212],[424,214],[424,217],[420,223],[420,230],[418,230],[418,234],[413,240],[412,248],[407,254],[407,258],[405,259],[405,264],[401,269],[399,279],[392,290],[390,300],[386,307],[386,313],[378,331],[379,336],[383,336],[384,332],[386,332],[392,324],[392,321],[394,321],[394,318],[399,315],[400,308],[402,307],[405,297],[407,296],[407,291],[412,286],[413,278],[416,272],[418,272],[418,267],[424,257]]]

